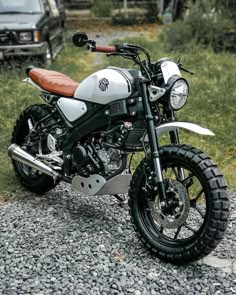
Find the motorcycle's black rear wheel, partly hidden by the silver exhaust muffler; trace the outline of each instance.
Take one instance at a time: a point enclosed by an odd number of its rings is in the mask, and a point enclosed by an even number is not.
[[[44,153],[48,153],[46,139],[41,143],[32,140],[31,130],[35,124],[49,115],[50,112],[51,107],[47,105],[33,105],[25,109],[15,123],[11,142],[16,143],[32,156],[39,153],[39,148],[42,148]],[[52,177],[25,164],[12,160],[12,165],[21,184],[34,193],[43,194],[58,184]]]

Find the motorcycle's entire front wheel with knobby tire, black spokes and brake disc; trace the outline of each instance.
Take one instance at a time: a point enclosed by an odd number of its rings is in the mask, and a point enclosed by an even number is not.
[[[131,220],[143,244],[160,259],[175,264],[198,260],[226,230],[226,183],[212,160],[191,146],[164,146],[160,161],[168,205],[159,201],[152,161],[144,159],[130,185]]]

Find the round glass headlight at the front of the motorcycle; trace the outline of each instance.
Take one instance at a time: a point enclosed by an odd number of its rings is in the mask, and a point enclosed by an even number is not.
[[[177,80],[170,90],[170,106],[174,110],[181,109],[188,98],[188,83],[184,79]]]

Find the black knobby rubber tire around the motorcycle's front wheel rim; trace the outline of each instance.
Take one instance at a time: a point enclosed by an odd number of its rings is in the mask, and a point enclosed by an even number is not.
[[[204,188],[207,216],[195,237],[186,241],[176,240],[174,244],[163,239],[161,232],[155,231],[155,226],[148,228],[148,222],[152,223],[144,219],[142,208],[146,202],[141,188],[146,181],[144,171],[147,163],[143,159],[133,175],[129,191],[129,212],[134,229],[142,243],[158,258],[174,264],[196,261],[209,254],[223,238],[229,217],[226,182],[213,161],[191,146],[164,146],[160,150],[160,159],[162,166],[179,162],[194,171]]]

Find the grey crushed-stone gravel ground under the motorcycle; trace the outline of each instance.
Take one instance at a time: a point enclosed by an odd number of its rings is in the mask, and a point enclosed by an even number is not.
[[[231,221],[214,251],[235,257],[236,194]],[[236,276],[201,261],[174,266],[136,238],[127,205],[80,196],[59,185],[0,210],[0,294],[234,294]]]

